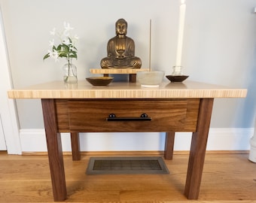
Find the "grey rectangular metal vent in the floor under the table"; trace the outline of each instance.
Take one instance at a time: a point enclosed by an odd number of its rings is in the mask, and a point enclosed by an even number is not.
[[[162,157],[91,157],[87,174],[169,174]]]

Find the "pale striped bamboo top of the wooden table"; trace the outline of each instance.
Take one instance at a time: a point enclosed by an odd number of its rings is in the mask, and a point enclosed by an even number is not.
[[[183,83],[161,83],[157,88],[144,88],[139,83],[116,83],[92,86],[86,80],[67,85],[53,81],[11,89],[9,98],[244,98],[247,89],[236,89],[186,80]]]

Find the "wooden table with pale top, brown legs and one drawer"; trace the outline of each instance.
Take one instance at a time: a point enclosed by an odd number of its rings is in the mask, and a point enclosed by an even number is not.
[[[192,81],[153,89],[136,83],[93,87],[87,81],[59,81],[12,89],[8,96],[41,98],[53,196],[63,201],[67,192],[60,132],[71,132],[73,159],[80,159],[79,132],[166,132],[166,159],[172,159],[175,132],[193,132],[184,195],[197,199],[214,98],[243,98],[246,93]]]

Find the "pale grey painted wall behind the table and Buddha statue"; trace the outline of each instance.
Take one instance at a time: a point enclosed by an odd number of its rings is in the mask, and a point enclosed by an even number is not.
[[[248,89],[247,98],[216,99],[212,129],[250,129],[256,111],[255,0],[187,0],[182,64],[190,80]],[[61,67],[47,52],[49,31],[67,21],[80,37],[78,79],[99,68],[114,23],[123,17],[136,41],[136,56],[148,66],[152,20],[151,67],[172,72],[178,30],[178,0],[0,0],[14,87],[62,80]],[[42,129],[39,100],[17,102],[21,129]]]

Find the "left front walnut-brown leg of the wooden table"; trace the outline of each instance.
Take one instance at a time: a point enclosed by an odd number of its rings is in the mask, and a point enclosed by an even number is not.
[[[56,108],[54,99],[41,99],[44,127],[47,139],[50,175],[53,186],[54,201],[63,201],[67,198],[66,179],[62,156],[62,144],[57,127]]]

